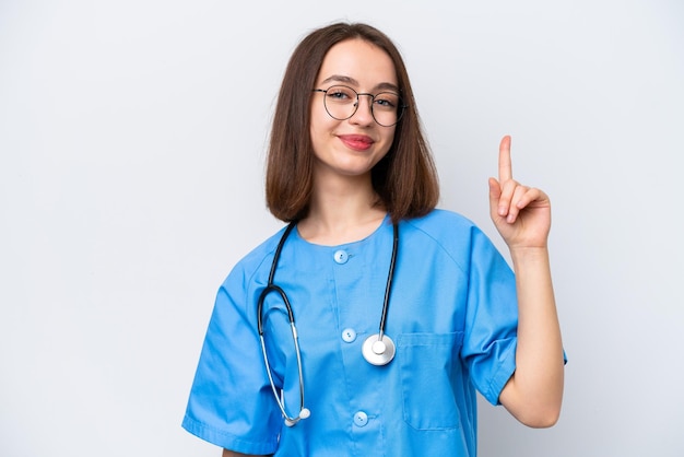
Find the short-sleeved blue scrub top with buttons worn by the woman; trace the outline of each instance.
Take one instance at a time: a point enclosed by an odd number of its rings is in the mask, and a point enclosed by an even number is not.
[[[391,221],[340,246],[314,245],[293,231],[274,282],[293,307],[311,415],[287,427],[257,331],[257,300],[283,230],[221,285],[182,426],[246,454],[475,456],[475,388],[498,403],[517,343],[515,277],[491,241],[444,210],[399,224],[386,326],[397,354],[375,366],[363,359],[362,344],[379,327]],[[264,315],[274,382],[296,415],[297,362],[278,294],[269,294]]]

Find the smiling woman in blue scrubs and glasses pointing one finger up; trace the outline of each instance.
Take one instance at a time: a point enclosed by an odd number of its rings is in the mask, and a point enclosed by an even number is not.
[[[474,456],[475,388],[527,425],[556,422],[549,198],[512,179],[505,137],[490,199],[515,274],[470,221],[435,210],[408,73],[382,33],[333,24],[296,48],[267,199],[290,225],[220,288],[189,432],[224,457]]]

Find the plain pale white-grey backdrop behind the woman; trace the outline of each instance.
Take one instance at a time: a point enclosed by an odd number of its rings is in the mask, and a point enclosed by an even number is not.
[[[481,403],[481,456],[684,455],[684,3],[0,0],[0,455],[219,456],[180,427],[263,201],[290,54],[399,45],[440,207],[480,224],[498,141],[553,202],[566,367],[550,430]]]

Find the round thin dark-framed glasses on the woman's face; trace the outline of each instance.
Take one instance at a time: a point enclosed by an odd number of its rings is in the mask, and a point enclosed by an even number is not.
[[[370,97],[370,114],[376,122],[382,127],[392,127],[404,113],[406,107],[396,92],[380,92],[379,94],[358,93],[346,85],[333,85],[327,90],[314,89],[312,92],[323,93],[323,106],[333,119],[346,120],[358,109],[358,97]]]

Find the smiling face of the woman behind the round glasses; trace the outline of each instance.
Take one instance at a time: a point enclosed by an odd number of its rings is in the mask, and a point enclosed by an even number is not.
[[[314,89],[328,90],[335,85],[373,95],[382,92],[399,93],[394,65],[390,57],[362,39],[338,43],[326,55]],[[350,94],[352,98],[355,97],[353,92]],[[370,96],[361,95],[356,113],[345,120],[338,120],[328,114],[323,105],[325,97],[334,113],[333,104],[340,103],[345,95],[330,91],[316,92],[311,97],[310,134],[316,157],[316,175],[369,176],[370,169],[391,147],[396,127],[382,127],[376,122],[370,112]],[[391,97],[388,102],[391,102]],[[376,102],[375,113],[378,119],[382,120],[381,110],[389,109],[388,106],[389,103],[385,101]],[[347,108],[353,109],[351,106]]]

